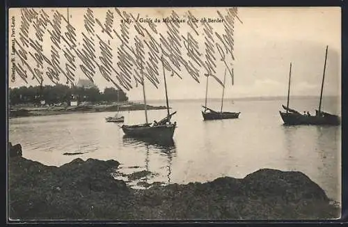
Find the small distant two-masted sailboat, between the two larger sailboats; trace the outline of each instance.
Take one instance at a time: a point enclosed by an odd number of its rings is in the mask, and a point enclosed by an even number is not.
[[[214,110],[209,109],[207,107],[207,93],[208,93],[208,76],[207,76],[207,85],[205,87],[205,106],[202,106],[204,108],[204,111],[202,111],[202,115],[203,115],[204,120],[222,120],[222,119],[233,119],[233,118],[239,117],[240,112],[222,111],[222,109],[223,109],[223,95],[225,94],[226,70],[227,69],[225,69],[225,75],[223,76],[223,89],[222,89],[220,111],[214,111]],[[233,73],[233,70],[232,70],[232,73]],[[232,77],[233,77],[233,75],[232,75]]]

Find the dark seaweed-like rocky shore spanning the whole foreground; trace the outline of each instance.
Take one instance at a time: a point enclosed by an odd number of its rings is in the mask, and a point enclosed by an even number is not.
[[[15,146],[14,146],[15,147]],[[335,219],[340,208],[301,172],[260,169],[243,179],[132,189],[115,180],[119,162],[74,159],[45,166],[8,158],[10,219]]]

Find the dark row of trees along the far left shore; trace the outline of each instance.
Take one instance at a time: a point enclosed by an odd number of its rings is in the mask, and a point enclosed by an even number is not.
[[[97,87],[84,88],[77,86],[22,86],[9,88],[9,102],[15,104],[58,104],[65,103],[70,106],[71,102],[125,102],[128,97],[125,92],[115,88],[105,88],[103,92]]]

